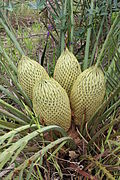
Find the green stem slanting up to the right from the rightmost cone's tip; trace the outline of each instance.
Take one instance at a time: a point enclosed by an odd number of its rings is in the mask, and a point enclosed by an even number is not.
[[[116,24],[117,24],[119,21],[120,21],[120,13],[116,16],[116,18],[115,18],[115,20],[114,20],[114,22],[113,22],[113,24],[112,24],[112,26],[111,26],[111,28],[110,28],[110,31],[109,31],[109,33],[108,33],[108,35],[107,35],[107,37],[106,37],[106,40],[105,40],[105,42],[104,42],[104,44],[103,44],[103,46],[102,46],[102,50],[101,50],[101,52],[100,52],[100,54],[99,54],[99,56],[98,56],[97,63],[96,63],[96,65],[95,65],[96,67],[98,67],[98,66],[100,65],[100,62],[101,62],[101,60],[102,60],[102,58],[103,58],[104,51],[105,51],[105,49],[106,49],[106,47],[107,47],[107,45],[108,45],[108,42],[109,42],[109,40],[110,40],[110,37],[112,36],[112,34],[113,34],[113,32],[114,32],[114,28],[115,28]]]

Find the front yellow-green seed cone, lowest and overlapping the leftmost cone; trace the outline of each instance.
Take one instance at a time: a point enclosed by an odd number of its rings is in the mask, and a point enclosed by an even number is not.
[[[71,125],[70,102],[66,91],[54,79],[43,79],[33,90],[33,109],[46,125],[58,125],[66,131]]]

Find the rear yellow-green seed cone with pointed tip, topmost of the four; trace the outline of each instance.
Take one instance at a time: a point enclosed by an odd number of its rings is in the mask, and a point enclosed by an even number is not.
[[[68,96],[80,73],[81,68],[76,57],[66,48],[56,63],[54,79],[66,90]]]

